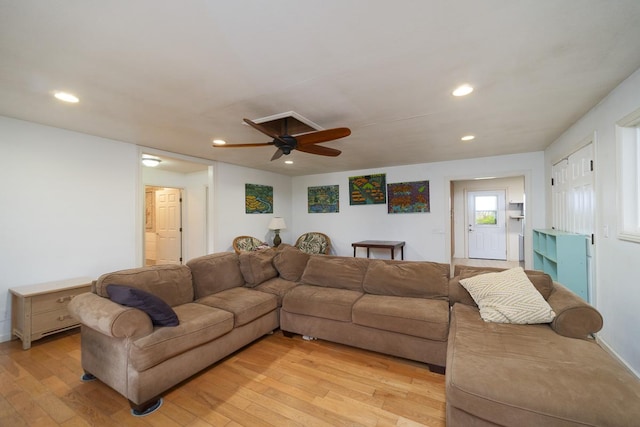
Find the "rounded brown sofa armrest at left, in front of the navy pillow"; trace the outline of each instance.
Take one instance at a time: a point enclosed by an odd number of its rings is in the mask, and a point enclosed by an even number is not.
[[[151,318],[145,312],[91,292],[73,298],[68,308],[81,324],[111,337],[139,337],[153,331]]]

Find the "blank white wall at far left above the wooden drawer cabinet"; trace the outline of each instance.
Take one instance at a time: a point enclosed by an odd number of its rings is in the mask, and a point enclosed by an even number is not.
[[[134,267],[138,151],[0,117],[0,341],[8,289]]]

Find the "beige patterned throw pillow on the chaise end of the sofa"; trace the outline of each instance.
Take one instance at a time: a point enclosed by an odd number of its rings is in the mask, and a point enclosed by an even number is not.
[[[556,315],[522,267],[480,274],[462,279],[460,284],[471,294],[486,322],[549,323]]]

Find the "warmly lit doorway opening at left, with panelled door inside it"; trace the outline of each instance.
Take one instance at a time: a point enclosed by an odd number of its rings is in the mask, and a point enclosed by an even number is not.
[[[182,189],[145,186],[145,266],[182,264]]]

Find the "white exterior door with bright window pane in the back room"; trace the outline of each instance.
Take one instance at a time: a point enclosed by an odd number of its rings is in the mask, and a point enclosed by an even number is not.
[[[469,258],[507,259],[504,191],[467,193]]]

